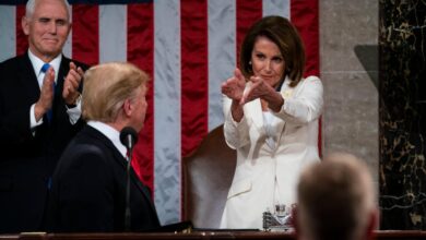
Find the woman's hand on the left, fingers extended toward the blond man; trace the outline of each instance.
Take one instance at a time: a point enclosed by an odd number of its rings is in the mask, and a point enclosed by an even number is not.
[[[236,69],[234,76],[229,77],[222,84],[222,93],[235,101],[240,101],[242,98],[244,89],[246,87],[246,79],[241,71]]]

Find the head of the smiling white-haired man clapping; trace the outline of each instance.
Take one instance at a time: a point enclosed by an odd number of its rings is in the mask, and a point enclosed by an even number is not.
[[[34,13],[23,17],[22,28],[28,36],[29,50],[50,61],[62,52],[71,29],[66,4],[58,0],[37,0]]]

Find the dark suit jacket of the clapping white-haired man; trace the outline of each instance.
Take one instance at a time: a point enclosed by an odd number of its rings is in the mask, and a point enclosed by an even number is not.
[[[29,130],[29,108],[40,95],[27,52],[0,63],[0,232],[40,230],[49,177],[60,154],[84,124],[69,121],[62,98],[70,59],[62,57],[54,117]],[[87,69],[83,63],[76,65]]]

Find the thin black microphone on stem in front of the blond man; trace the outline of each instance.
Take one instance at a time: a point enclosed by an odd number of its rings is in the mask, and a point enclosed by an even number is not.
[[[125,127],[120,132],[120,142],[127,148],[127,182],[126,182],[126,212],[125,212],[125,230],[130,231],[131,212],[130,212],[130,168],[132,160],[132,149],[138,141],[138,133],[131,127]]]

